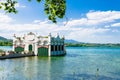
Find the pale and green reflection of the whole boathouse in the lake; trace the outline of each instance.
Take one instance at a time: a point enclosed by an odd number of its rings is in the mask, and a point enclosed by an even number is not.
[[[63,57],[26,57],[22,60],[14,60],[14,68],[9,73],[14,74],[4,76],[5,80],[56,80],[62,79],[64,76],[64,61]],[[6,75],[6,73],[5,73]]]

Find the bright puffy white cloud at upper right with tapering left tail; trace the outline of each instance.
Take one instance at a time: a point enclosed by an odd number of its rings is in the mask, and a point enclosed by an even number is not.
[[[90,11],[86,13],[86,16],[81,19],[70,20],[68,25],[96,26],[115,22],[117,19],[120,19],[120,11]]]

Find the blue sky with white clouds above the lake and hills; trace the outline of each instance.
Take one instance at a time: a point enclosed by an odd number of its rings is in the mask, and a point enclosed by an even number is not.
[[[0,0],[4,1],[4,0]],[[44,13],[44,0],[18,0],[17,14],[0,10],[0,36],[13,38],[28,32],[89,43],[120,43],[120,0],[66,0],[66,14],[54,24]]]

